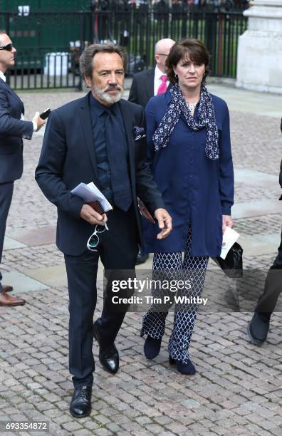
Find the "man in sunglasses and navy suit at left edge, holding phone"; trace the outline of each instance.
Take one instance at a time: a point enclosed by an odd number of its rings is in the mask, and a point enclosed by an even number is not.
[[[0,264],[6,229],[6,220],[11,205],[14,180],[23,172],[23,138],[31,139],[33,131],[39,130],[44,121],[39,113],[33,121],[24,121],[23,103],[6,83],[6,70],[14,66],[16,48],[5,31],[0,31]],[[7,294],[11,286],[1,284],[0,306],[19,306],[23,299]]]

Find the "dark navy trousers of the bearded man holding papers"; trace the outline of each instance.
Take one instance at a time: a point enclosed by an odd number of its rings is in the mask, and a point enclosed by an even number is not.
[[[128,274],[135,274],[138,246],[133,207],[127,212],[116,207],[108,214],[107,224],[109,231],[99,234],[97,252],[85,249],[80,256],[65,254],[70,312],[69,369],[75,387],[93,384],[93,315],[97,301],[99,256],[105,271],[108,271],[103,311],[98,319],[103,345],[110,345],[115,341],[128,308],[128,305],[113,306],[112,296],[117,294],[112,294],[110,282],[113,279],[127,279]],[[125,289],[124,294],[119,292],[118,295],[128,296],[128,292]]]

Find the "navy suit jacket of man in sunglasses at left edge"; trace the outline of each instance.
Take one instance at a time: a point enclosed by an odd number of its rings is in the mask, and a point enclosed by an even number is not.
[[[31,139],[33,123],[21,120],[23,102],[0,78],[0,183],[13,182],[23,173],[23,140]]]

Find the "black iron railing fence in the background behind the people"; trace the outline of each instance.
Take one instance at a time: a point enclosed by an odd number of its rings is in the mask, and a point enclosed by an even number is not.
[[[16,89],[80,88],[78,61],[85,46],[113,41],[129,54],[130,76],[154,64],[160,38],[201,39],[211,53],[211,76],[236,77],[238,40],[246,30],[242,12],[129,11],[15,12],[0,15],[17,48],[16,66],[9,81]]]

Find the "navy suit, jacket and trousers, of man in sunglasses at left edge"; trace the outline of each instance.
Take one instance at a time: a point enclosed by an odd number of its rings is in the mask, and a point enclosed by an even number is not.
[[[14,180],[23,173],[22,138],[33,134],[33,123],[21,120],[22,113],[23,102],[0,78],[0,263]],[[0,282],[1,278],[0,272]]]

